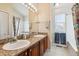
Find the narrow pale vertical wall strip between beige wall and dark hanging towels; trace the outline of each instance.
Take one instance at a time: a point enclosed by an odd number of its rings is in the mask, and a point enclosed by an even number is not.
[[[50,36],[50,45],[52,46],[53,45],[53,42],[54,42],[54,33],[55,33],[55,9],[54,9],[54,4],[51,3],[50,4],[50,31],[49,31],[49,36]]]

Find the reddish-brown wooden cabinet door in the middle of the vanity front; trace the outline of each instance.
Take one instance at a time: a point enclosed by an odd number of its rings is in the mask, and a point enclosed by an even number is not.
[[[39,56],[39,43],[29,48],[29,56]]]

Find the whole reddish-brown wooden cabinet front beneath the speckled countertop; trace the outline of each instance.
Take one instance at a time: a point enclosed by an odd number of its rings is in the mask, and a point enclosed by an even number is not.
[[[18,54],[18,56],[41,56],[48,49],[48,36],[29,47],[27,50]]]

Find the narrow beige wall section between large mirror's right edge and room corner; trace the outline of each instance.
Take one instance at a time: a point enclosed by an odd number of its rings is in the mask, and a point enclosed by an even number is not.
[[[29,10],[30,32],[38,31],[38,25],[37,25],[38,19],[37,18],[38,18],[38,16],[36,15],[36,13]]]

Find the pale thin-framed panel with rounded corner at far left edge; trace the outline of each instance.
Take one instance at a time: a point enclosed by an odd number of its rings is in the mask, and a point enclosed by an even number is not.
[[[9,14],[0,11],[0,37],[6,36],[9,34]]]

